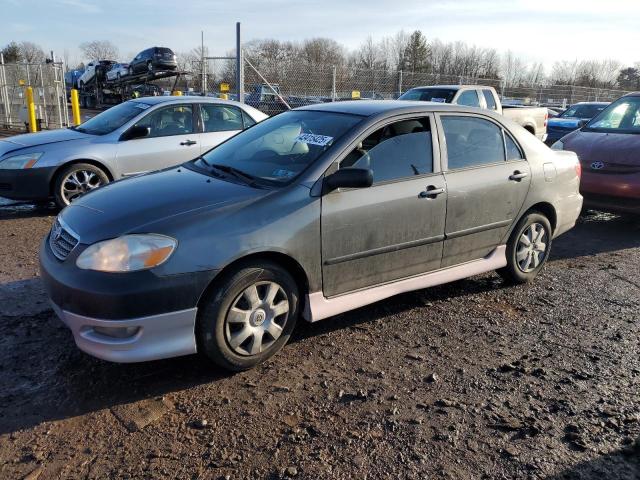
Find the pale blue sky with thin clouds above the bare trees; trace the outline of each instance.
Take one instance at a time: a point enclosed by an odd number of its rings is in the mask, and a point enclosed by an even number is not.
[[[29,40],[59,56],[66,49],[70,62],[89,40],[111,40],[123,61],[154,45],[188,51],[201,30],[221,55],[235,45],[236,21],[245,40],[323,36],[355,48],[368,35],[420,29],[546,65],[640,61],[640,0],[0,0],[0,18],[0,45]]]

